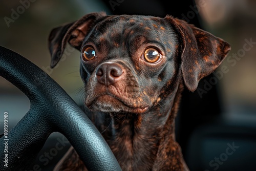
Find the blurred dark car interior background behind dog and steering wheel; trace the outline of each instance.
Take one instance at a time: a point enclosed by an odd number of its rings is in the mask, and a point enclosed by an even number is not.
[[[110,15],[169,14],[184,19],[223,38],[232,48],[216,72],[200,81],[197,91],[183,93],[176,134],[185,161],[190,170],[256,170],[255,9],[253,0],[186,0],[175,4],[156,0],[0,1],[0,46],[35,63],[82,105],[79,52],[67,55],[53,70],[49,67],[48,35],[53,28],[99,11]],[[29,108],[28,98],[0,77],[0,126],[5,111],[12,127]],[[31,169],[38,164],[42,170],[52,170],[69,145],[63,145],[48,163],[42,159],[61,136],[50,136]]]

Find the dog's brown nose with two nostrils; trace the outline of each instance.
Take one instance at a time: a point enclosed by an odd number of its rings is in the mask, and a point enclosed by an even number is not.
[[[123,76],[123,68],[118,63],[103,63],[96,70],[99,83],[109,87]]]

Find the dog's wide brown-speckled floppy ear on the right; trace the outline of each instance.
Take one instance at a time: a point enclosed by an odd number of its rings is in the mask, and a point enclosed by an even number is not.
[[[181,40],[181,70],[185,86],[195,91],[203,77],[214,72],[230,51],[223,39],[185,21],[166,16]]]

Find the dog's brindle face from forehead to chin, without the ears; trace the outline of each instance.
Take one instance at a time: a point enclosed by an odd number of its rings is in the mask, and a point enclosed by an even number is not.
[[[96,24],[81,46],[86,105],[103,112],[151,108],[177,77],[177,42],[161,18],[115,16]]]

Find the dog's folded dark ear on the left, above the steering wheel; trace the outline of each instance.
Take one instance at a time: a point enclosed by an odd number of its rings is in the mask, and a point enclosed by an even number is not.
[[[90,13],[76,22],[53,29],[50,33],[48,44],[52,57],[51,68],[54,68],[60,60],[67,42],[77,50],[80,50],[84,37],[105,16],[104,12]]]

